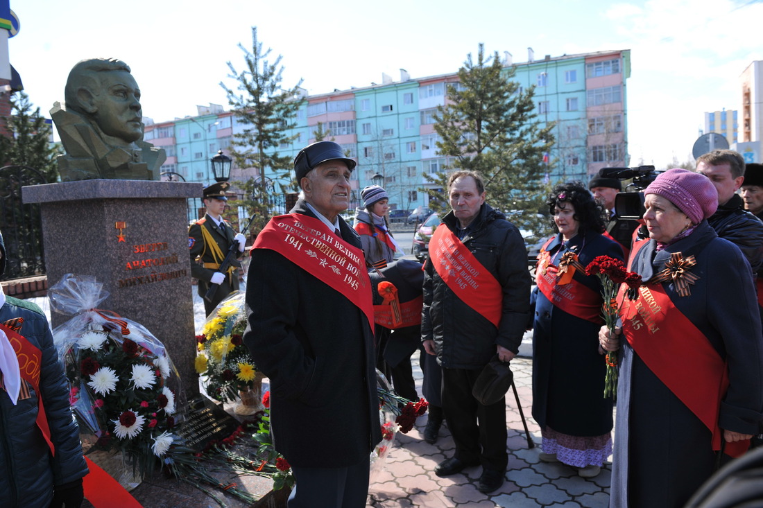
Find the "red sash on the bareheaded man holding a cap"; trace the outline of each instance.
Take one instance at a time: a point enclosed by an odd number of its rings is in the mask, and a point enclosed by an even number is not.
[[[503,291],[488,269],[447,227],[434,230],[429,249],[437,275],[461,301],[497,328],[501,323]]]

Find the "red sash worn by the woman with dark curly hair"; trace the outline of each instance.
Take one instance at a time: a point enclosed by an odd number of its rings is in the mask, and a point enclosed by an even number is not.
[[[538,290],[549,299],[554,307],[579,317],[581,320],[597,324],[604,323],[601,318],[600,294],[574,278],[568,284],[558,283],[559,268],[551,264],[551,254],[546,250],[551,240],[546,242],[538,255],[538,267],[535,276]],[[570,267],[569,269],[574,270],[575,268]]]

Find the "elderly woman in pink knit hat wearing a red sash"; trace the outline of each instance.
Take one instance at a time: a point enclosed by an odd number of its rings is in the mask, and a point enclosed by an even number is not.
[[[613,508],[684,506],[713,470],[749,447],[763,410],[763,345],[749,262],[707,223],[710,180],[670,169],[644,191],[645,281],[621,310]]]

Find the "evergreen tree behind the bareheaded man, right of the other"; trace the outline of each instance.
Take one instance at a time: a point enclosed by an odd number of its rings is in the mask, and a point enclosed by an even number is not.
[[[434,126],[439,134],[438,153],[449,157],[447,169],[476,170],[485,177],[492,207],[512,211],[517,227],[538,235],[548,230],[548,220],[538,217],[549,191],[549,166],[544,156],[554,142],[553,124],[536,120],[534,87],[520,91],[513,82],[515,69],[504,69],[498,53],[485,59],[479,45],[477,61],[469,53],[459,69],[459,86],[448,86],[448,101],[438,108]],[[546,158],[547,160],[547,158]],[[447,175],[431,175],[444,193]],[[447,196],[423,189],[435,204]]]

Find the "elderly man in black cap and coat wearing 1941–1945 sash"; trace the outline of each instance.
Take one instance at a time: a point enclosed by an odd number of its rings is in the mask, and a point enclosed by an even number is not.
[[[273,445],[296,479],[288,508],[365,507],[381,441],[371,283],[340,217],[355,165],[332,141],[301,150],[300,199],[252,249],[243,340],[270,378]]]

